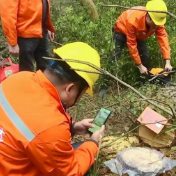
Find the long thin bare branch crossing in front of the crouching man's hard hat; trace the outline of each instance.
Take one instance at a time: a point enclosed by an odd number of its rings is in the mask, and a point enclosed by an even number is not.
[[[114,80],[118,81],[119,83],[123,84],[124,86],[128,87],[129,89],[131,89],[133,92],[135,92],[138,96],[142,97],[144,100],[146,100],[147,102],[149,102],[150,104],[154,105],[155,107],[163,110],[164,112],[166,112],[167,114],[173,116],[171,111],[168,111],[167,109],[165,109],[163,106],[159,106],[157,103],[149,100],[147,97],[145,97],[144,95],[142,95],[138,90],[136,90],[134,87],[130,86],[129,84],[123,82],[122,80],[120,80],[119,78],[117,78],[116,76],[110,74],[108,71],[99,68],[97,66],[95,66],[94,64],[91,64],[89,62],[85,62],[85,61],[79,61],[79,60],[73,60],[73,59],[58,59],[58,58],[50,58],[50,57],[43,57],[44,59],[48,59],[48,60],[57,60],[60,62],[76,62],[76,63],[81,63],[81,64],[86,64],[92,68],[94,68],[95,70],[97,70],[98,72],[100,72],[101,74],[107,75],[111,78],[113,78]],[[74,70],[80,70],[80,69],[76,69],[74,68]],[[84,70],[82,70],[84,72]],[[86,70],[86,72],[90,72],[92,73],[92,71],[88,71]]]

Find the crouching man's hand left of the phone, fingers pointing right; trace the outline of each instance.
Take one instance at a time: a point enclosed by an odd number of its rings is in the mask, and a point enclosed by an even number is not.
[[[82,135],[88,133],[88,128],[93,128],[94,125],[92,124],[93,119],[84,119],[80,122],[77,122],[73,126],[74,134]]]

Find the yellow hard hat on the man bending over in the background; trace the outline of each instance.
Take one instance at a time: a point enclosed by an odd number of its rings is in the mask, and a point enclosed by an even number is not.
[[[167,6],[163,0],[151,0],[147,2],[146,5],[147,10],[153,11],[164,11],[167,12]],[[164,25],[166,23],[166,13],[156,13],[156,12],[148,12],[152,21],[155,25]]]

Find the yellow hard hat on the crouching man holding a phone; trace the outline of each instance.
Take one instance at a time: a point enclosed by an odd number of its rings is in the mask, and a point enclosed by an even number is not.
[[[85,61],[85,62],[94,64],[95,66],[100,68],[100,56],[98,52],[86,43],[83,43],[83,42],[69,43],[60,48],[54,49],[53,51],[55,54],[60,56],[63,60],[73,59],[78,61]],[[68,61],[66,62],[71,68],[74,68],[74,69],[97,71],[86,64],[68,62]],[[96,73],[87,73],[83,71],[75,71],[75,72],[87,82],[87,84],[89,85],[87,93],[92,96],[93,85],[97,81],[99,75]]]

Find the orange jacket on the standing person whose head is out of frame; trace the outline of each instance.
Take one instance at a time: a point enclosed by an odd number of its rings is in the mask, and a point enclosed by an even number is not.
[[[49,7],[50,2],[47,1]],[[42,10],[42,0],[1,0],[2,28],[10,45],[18,44],[18,36],[42,38]],[[55,31],[51,22],[50,10],[48,10],[46,29]]]

